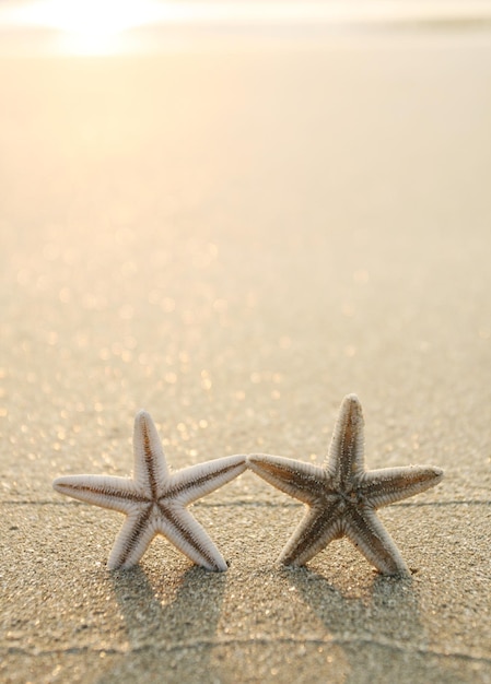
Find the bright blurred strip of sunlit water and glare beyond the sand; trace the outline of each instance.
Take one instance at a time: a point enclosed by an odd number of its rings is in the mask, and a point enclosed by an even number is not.
[[[149,52],[242,36],[262,38],[346,34],[387,27],[483,28],[489,0],[2,0],[1,49],[9,54]]]

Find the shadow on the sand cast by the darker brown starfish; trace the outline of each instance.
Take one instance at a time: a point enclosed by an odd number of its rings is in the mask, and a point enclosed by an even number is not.
[[[326,681],[331,669],[330,681],[343,684],[457,683],[445,656],[429,646],[412,578],[376,574],[343,593],[306,567],[283,567],[281,574],[316,617],[318,640],[329,652]]]

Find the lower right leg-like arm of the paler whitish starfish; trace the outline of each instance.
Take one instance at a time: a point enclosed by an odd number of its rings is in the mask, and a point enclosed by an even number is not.
[[[192,563],[208,570],[227,569],[225,559],[201,524],[177,502],[159,504],[159,531]]]

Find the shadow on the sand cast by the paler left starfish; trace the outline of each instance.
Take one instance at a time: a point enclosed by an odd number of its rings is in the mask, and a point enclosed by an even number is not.
[[[112,573],[128,651],[113,656],[97,684],[130,677],[147,682],[211,682],[210,657],[225,590],[225,575],[190,567],[180,585],[150,581],[136,567]]]

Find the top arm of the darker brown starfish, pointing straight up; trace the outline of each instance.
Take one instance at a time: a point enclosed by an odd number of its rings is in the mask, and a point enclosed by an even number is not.
[[[363,413],[356,394],[347,394],[341,402],[336,421],[329,453],[327,471],[335,481],[342,485],[363,472],[364,434]]]

